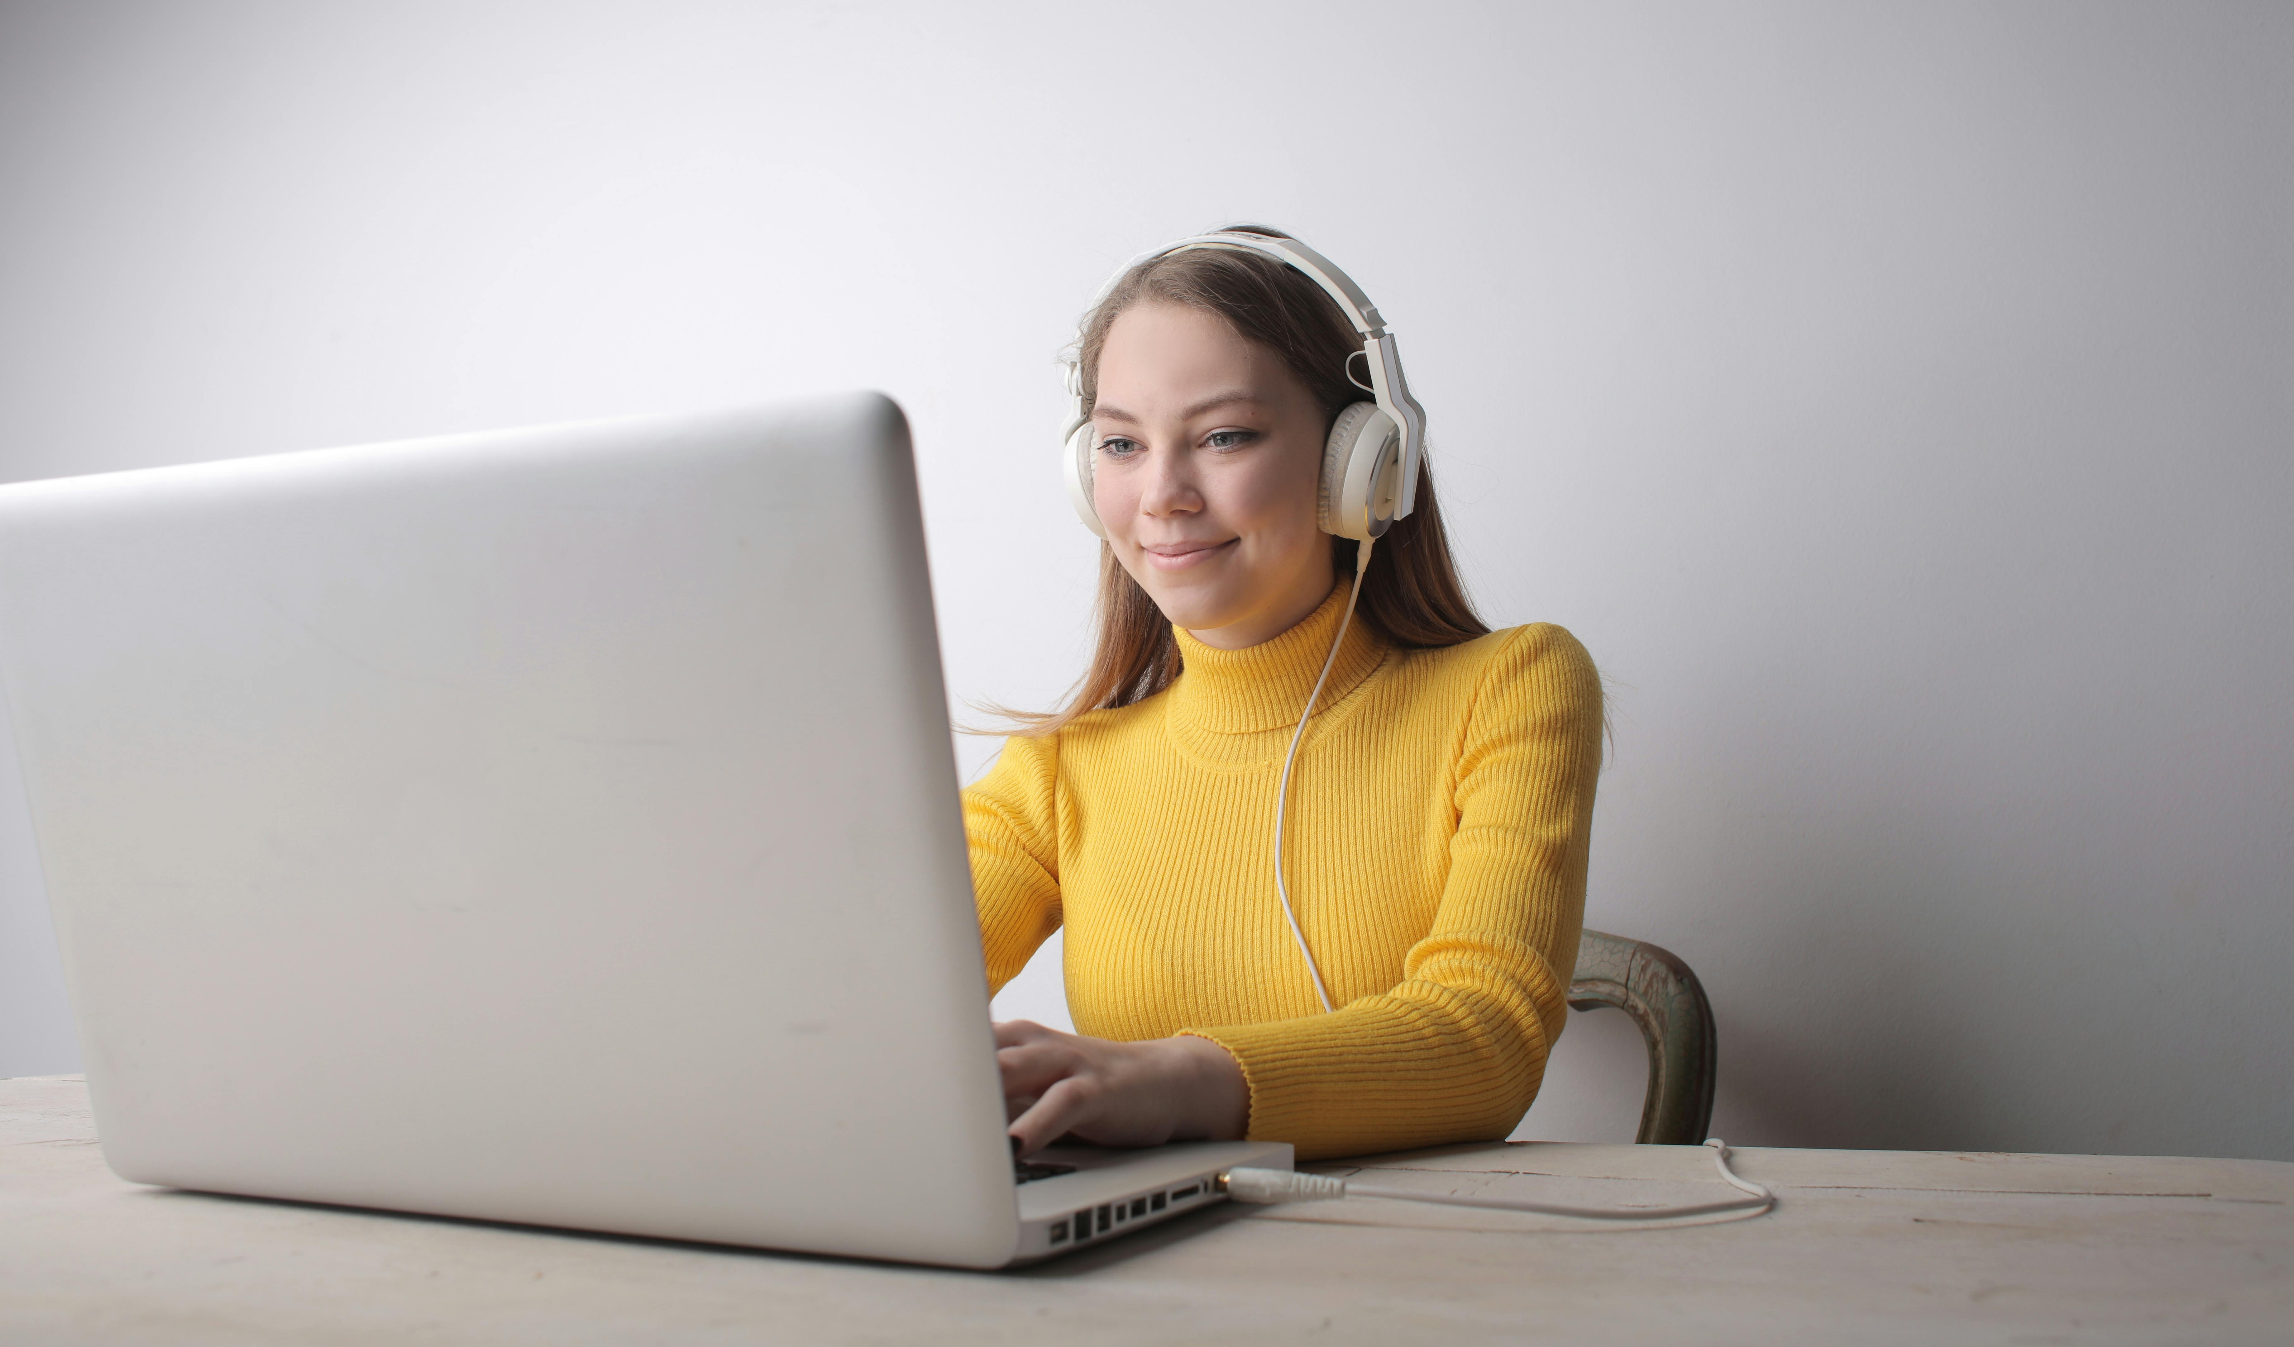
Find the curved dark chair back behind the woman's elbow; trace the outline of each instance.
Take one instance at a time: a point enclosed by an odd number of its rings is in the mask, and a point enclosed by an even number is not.
[[[1714,1007],[1672,950],[1585,932],[1569,980],[1569,1010],[1615,1005],[1649,1044],[1640,1145],[1700,1145],[1714,1120]]]

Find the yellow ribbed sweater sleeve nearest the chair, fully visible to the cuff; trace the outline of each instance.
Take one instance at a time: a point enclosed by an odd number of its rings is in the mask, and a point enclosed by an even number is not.
[[[1188,1028],[1250,1083],[1250,1138],[1298,1159],[1500,1140],[1567,1019],[1601,771],[1601,679],[1560,626],[1491,659],[1450,771],[1457,833],[1402,982],[1333,1014]]]

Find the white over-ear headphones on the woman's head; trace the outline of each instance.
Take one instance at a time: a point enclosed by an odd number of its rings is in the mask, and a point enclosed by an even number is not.
[[[1411,397],[1411,386],[1402,379],[1402,356],[1395,351],[1395,335],[1386,330],[1386,319],[1379,317],[1376,305],[1370,303],[1363,287],[1353,285],[1328,257],[1296,239],[1275,239],[1243,229],[1193,234],[1126,262],[1108,285],[1099,287],[1092,310],[1106,303],[1108,294],[1115,291],[1115,285],[1133,266],[1197,248],[1259,252],[1298,268],[1324,294],[1337,301],[1340,312],[1363,335],[1370,383],[1363,386],[1360,379],[1353,379],[1351,356],[1347,358],[1347,379],[1356,388],[1365,388],[1374,402],[1356,402],[1331,422],[1331,438],[1321,450],[1317,523],[1321,523],[1324,532],[1356,542],[1381,537],[1392,521],[1418,507],[1418,461],[1425,457],[1427,413]],[[1076,399],[1067,420],[1067,443],[1060,450],[1067,498],[1085,528],[1099,537],[1108,537],[1108,528],[1099,521],[1099,509],[1092,505],[1092,464],[1097,461],[1099,445],[1092,443],[1092,418],[1083,408],[1080,356],[1067,365],[1067,392]]]

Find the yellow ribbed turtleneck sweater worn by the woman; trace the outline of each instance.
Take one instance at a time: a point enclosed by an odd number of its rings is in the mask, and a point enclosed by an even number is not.
[[[1250,649],[1179,631],[1186,672],[963,792],[989,984],[1067,927],[1076,1030],[1191,1033],[1243,1067],[1250,1136],[1301,1159],[1496,1140],[1567,1017],[1601,764],[1601,682],[1560,626],[1395,649],[1360,622],[1275,778],[1347,606]]]

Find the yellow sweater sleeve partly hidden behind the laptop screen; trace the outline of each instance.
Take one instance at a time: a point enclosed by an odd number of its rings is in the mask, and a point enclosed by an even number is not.
[[[989,996],[1060,929],[1058,776],[1058,737],[1014,734],[996,766],[963,792]]]

